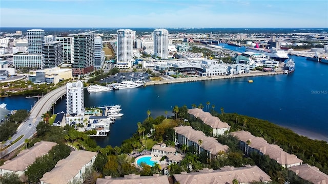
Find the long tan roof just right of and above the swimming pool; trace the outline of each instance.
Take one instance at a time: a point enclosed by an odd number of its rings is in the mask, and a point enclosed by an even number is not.
[[[216,154],[219,151],[226,152],[229,148],[227,145],[218,143],[214,137],[206,136],[202,131],[194,130],[191,126],[174,127],[174,130],[196,144],[198,144],[198,140],[202,140],[200,147],[210,151],[212,154]]]

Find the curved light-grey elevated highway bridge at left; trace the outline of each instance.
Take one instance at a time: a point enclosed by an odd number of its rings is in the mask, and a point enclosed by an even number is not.
[[[17,129],[17,133],[12,136],[10,141],[7,141],[4,146],[10,144],[10,142],[15,141],[18,139],[19,136],[24,135],[22,139],[8,147],[6,150],[3,150],[2,155],[7,155],[20,146],[25,144],[26,139],[31,139],[33,134],[36,132],[36,126],[39,121],[42,121],[42,114],[46,113],[49,109],[51,109],[52,104],[54,104],[60,97],[66,94],[66,85],[61,86],[55,90],[50,91],[44,97],[40,98],[33,108],[30,111],[30,116],[24,121],[22,124],[19,125]]]

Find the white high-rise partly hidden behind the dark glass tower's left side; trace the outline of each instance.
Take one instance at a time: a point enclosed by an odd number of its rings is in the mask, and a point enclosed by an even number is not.
[[[63,63],[74,63],[74,38],[56,37],[56,41],[60,41],[63,45]]]

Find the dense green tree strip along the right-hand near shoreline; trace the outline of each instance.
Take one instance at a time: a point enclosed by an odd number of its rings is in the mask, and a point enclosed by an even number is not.
[[[245,130],[255,136],[263,137],[268,143],[280,146],[285,152],[295,154],[308,163],[316,166],[320,171],[328,174],[328,144],[325,141],[311,140],[298,135],[288,128],[257,118],[242,116],[236,113],[214,115],[231,126],[231,131]]]

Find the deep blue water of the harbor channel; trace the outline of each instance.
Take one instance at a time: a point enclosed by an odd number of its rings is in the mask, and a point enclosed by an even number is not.
[[[109,136],[96,141],[101,147],[119,146],[136,131],[137,122],[147,118],[148,109],[151,117],[165,116],[166,110],[173,115],[175,105],[191,108],[191,104],[206,106],[207,101],[217,111],[223,107],[225,112],[268,120],[327,141],[328,64],[290,57],[296,63],[295,72],[290,75],[164,84],[96,94],[85,91],[86,107],[120,104],[124,113],[111,125]],[[11,110],[30,109],[34,100],[9,97],[1,102],[7,102]],[[65,100],[58,102],[54,111],[65,111]]]

